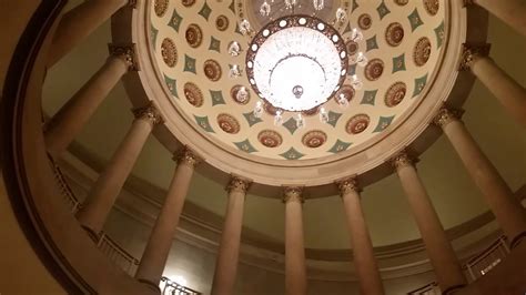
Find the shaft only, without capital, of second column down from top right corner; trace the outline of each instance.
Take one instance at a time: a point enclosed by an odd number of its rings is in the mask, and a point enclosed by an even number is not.
[[[526,20],[524,16],[523,19]],[[500,101],[506,111],[526,126],[526,89],[488,57],[474,59],[471,69],[478,80]]]

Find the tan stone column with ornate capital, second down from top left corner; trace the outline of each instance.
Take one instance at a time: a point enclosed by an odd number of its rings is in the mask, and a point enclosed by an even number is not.
[[[45,145],[52,156],[65,151],[122,75],[136,70],[134,60],[133,47],[110,45],[104,65],[45,124]]]

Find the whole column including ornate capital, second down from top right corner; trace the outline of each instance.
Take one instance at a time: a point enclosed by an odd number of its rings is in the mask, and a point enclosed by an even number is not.
[[[526,17],[523,16],[523,19]],[[488,54],[489,44],[464,44],[461,69],[469,69],[506,111],[526,126],[526,89],[503,71]]]

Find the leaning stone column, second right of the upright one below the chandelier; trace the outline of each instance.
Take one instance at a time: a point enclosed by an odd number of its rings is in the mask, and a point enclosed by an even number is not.
[[[393,160],[402,187],[424,241],[436,279],[444,294],[464,287],[467,282],[438,215],[416,173],[414,162],[402,152]]]

